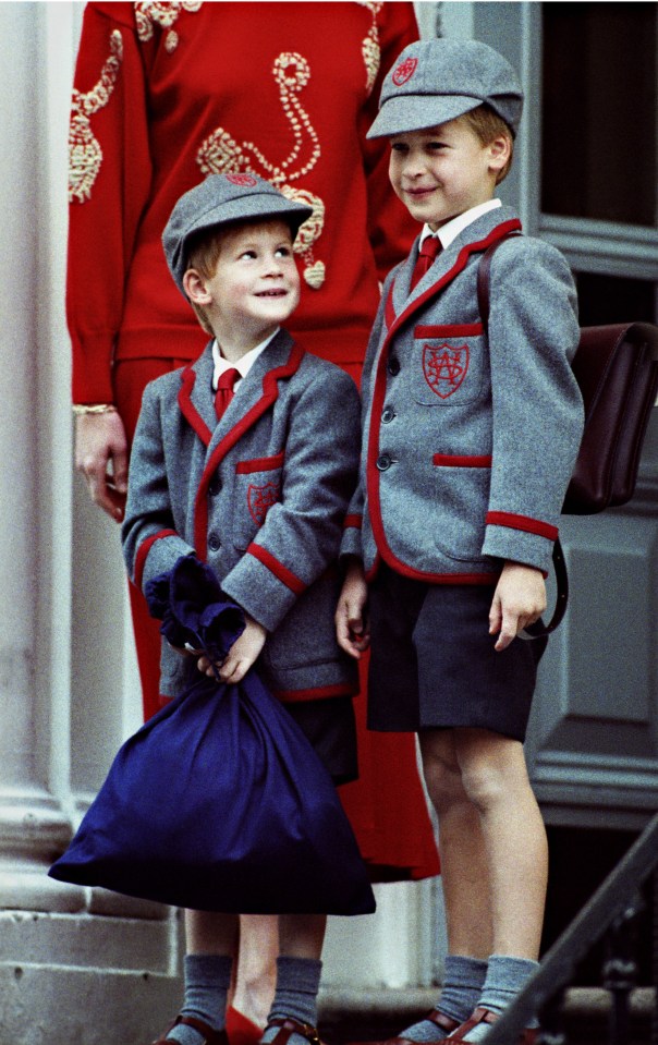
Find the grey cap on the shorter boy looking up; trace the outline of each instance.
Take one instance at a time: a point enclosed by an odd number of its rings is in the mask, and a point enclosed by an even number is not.
[[[171,211],[162,233],[169,270],[181,293],[185,294],[183,276],[188,267],[187,245],[197,232],[237,221],[281,218],[291,227],[294,239],[302,222],[312,214],[312,207],[288,199],[257,174],[210,174],[181,196]]]

